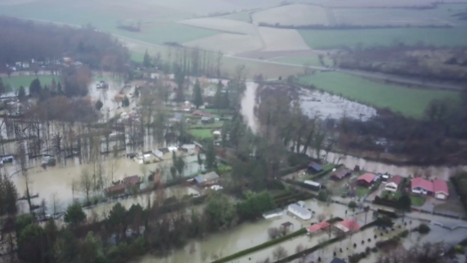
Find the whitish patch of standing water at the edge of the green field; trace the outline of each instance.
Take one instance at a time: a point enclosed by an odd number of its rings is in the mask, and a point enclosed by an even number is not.
[[[309,118],[339,119],[346,116],[368,121],[377,114],[373,107],[322,91],[300,89],[299,100],[303,113]]]

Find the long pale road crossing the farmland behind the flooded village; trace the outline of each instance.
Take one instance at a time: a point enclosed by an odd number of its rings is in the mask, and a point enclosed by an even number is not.
[[[73,27],[81,27],[79,25],[73,25],[70,23],[60,23],[60,22],[55,22],[55,21],[47,21],[43,19],[34,19],[34,18],[23,18],[31,21],[38,21],[38,22],[45,22],[45,23],[55,23],[58,25],[64,25],[64,26],[73,26]],[[137,40],[134,38],[128,38],[123,35],[118,35],[118,34],[112,34],[114,37],[118,38],[119,40],[123,40],[123,42],[126,41],[132,41],[133,43],[138,43],[141,45],[145,45],[147,47],[167,47],[165,45],[158,45],[154,43],[149,43],[146,41],[142,40]],[[216,54],[216,52],[211,52],[213,54]],[[302,65],[295,65],[295,64],[290,64],[290,63],[284,63],[284,62],[275,62],[275,61],[268,61],[268,60],[259,60],[259,59],[254,59],[254,58],[249,58],[249,57],[238,57],[236,55],[224,55],[224,57],[230,57],[234,58],[237,60],[246,60],[246,61],[253,61],[253,62],[260,62],[260,63],[266,63],[266,64],[275,64],[275,65],[282,65],[282,66],[287,66],[287,67],[300,67],[302,68]],[[309,66],[310,69],[316,69],[316,70],[333,70],[336,72],[343,72],[346,74],[351,74],[353,76],[357,77],[365,77],[365,78],[370,78],[370,79],[377,79],[381,81],[390,81],[390,82],[396,82],[397,84],[405,84],[405,85],[416,85],[416,86],[423,86],[426,88],[431,88],[431,89],[450,89],[454,91],[461,91],[463,90],[463,86],[461,85],[456,85],[456,84],[446,84],[446,83],[436,83],[436,82],[425,82],[424,80],[420,79],[409,79],[405,77],[399,77],[399,76],[394,76],[394,75],[389,75],[389,74],[383,74],[383,73],[377,73],[377,72],[363,72],[359,70],[351,70],[351,69],[330,69],[329,67],[319,67],[319,66]]]

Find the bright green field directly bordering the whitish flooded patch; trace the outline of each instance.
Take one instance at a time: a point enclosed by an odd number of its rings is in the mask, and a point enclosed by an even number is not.
[[[301,77],[302,84],[314,84],[318,89],[356,100],[376,108],[389,108],[404,116],[422,118],[424,109],[433,99],[458,101],[458,92],[432,89],[412,89],[404,86],[373,82],[341,72],[324,72]]]

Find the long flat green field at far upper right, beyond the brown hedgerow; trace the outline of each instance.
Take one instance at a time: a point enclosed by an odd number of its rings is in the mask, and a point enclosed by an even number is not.
[[[299,30],[310,48],[389,46],[395,43],[434,46],[467,46],[465,28],[379,28],[346,30]]]

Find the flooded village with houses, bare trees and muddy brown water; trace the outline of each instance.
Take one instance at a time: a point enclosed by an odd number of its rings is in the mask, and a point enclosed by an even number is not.
[[[466,260],[465,152],[437,119],[63,30],[70,57],[0,75],[2,262]]]

